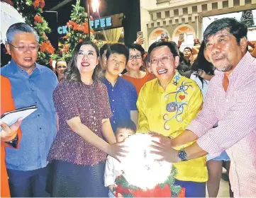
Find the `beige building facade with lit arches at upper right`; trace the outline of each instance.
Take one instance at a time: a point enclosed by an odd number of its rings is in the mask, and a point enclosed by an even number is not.
[[[163,31],[174,42],[184,33],[182,47],[191,46],[194,38],[202,39],[203,18],[253,9],[256,0],[140,0],[144,47],[148,48]]]

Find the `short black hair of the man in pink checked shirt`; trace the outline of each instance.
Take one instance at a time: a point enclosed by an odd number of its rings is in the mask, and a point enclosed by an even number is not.
[[[244,23],[240,23],[235,18],[221,18],[213,21],[204,31],[204,42],[207,43],[208,37],[215,35],[220,30],[228,30],[233,35],[240,45],[240,39],[247,38],[247,26]]]

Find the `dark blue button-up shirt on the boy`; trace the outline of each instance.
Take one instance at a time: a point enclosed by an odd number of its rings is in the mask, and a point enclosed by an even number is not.
[[[113,116],[110,119],[113,132],[116,132],[118,122],[130,120],[130,111],[137,110],[138,95],[135,86],[118,76],[114,86],[106,78],[103,80],[108,89],[108,98]]]

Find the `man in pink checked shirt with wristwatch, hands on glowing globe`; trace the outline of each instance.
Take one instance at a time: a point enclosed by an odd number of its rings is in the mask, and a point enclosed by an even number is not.
[[[234,197],[256,197],[256,59],[247,52],[247,27],[234,18],[219,19],[206,28],[204,42],[216,72],[203,109],[175,139],[152,134],[160,137],[152,153],[179,162],[226,150]],[[180,151],[170,149],[191,141]]]

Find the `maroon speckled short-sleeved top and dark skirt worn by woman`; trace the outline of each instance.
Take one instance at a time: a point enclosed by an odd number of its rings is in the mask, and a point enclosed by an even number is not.
[[[53,167],[51,195],[107,197],[108,190],[103,185],[106,153],[84,141],[66,122],[79,116],[84,125],[103,138],[101,120],[111,117],[106,86],[62,80],[53,93],[53,101],[60,129],[48,154]]]

